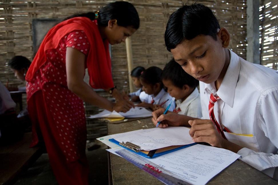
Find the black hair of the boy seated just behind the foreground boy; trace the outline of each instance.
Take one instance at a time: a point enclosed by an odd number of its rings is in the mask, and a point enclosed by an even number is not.
[[[184,85],[193,88],[199,85],[199,81],[191,75],[188,75],[174,59],[170,60],[170,62],[165,65],[161,74],[161,79],[172,81],[173,85],[180,89],[182,89]]]

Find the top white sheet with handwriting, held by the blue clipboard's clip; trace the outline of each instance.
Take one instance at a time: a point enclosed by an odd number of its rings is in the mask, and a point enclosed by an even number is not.
[[[141,147],[141,150],[155,150],[167,146],[186,145],[194,143],[189,135],[189,128],[169,126],[166,128],[149,128],[140,132],[131,131],[114,134],[113,139],[119,142],[131,142]],[[134,133],[132,133],[134,132]]]

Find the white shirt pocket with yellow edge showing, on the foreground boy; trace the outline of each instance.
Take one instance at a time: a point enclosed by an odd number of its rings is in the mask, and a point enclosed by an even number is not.
[[[254,150],[255,152],[261,152],[259,144],[257,142],[257,138],[252,134],[242,135],[229,132],[224,132],[224,134],[227,140],[230,142],[233,142],[244,148],[249,148],[251,150]]]

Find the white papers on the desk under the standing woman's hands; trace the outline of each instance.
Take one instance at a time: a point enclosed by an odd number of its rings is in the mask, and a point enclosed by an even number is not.
[[[98,114],[91,115],[88,118],[140,118],[140,117],[150,117],[152,116],[152,112],[147,110],[144,107],[135,107],[131,108],[127,112],[110,112],[108,110],[104,110]]]

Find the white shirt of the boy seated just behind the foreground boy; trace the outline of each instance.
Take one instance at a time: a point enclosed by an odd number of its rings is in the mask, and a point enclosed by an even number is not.
[[[195,88],[194,91],[185,100],[176,100],[176,108],[174,112],[193,118],[201,118],[202,107],[198,89]]]

